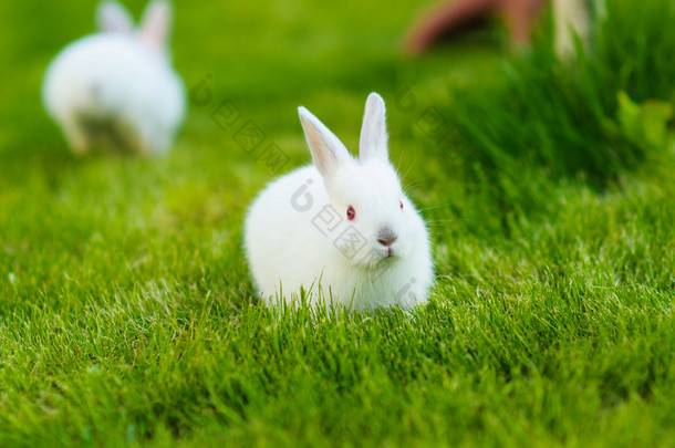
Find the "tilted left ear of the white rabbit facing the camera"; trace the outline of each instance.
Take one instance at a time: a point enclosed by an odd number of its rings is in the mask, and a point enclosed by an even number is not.
[[[329,131],[310,111],[298,107],[307,144],[312,153],[314,166],[324,178],[331,177],[352,156],[340,139]]]

